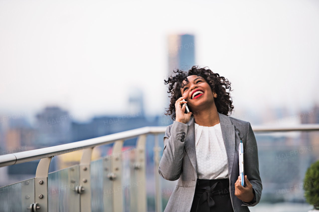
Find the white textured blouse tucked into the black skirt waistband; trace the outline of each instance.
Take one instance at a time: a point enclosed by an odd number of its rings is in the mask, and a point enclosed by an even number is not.
[[[198,179],[228,178],[227,154],[220,123],[204,127],[195,123]]]

